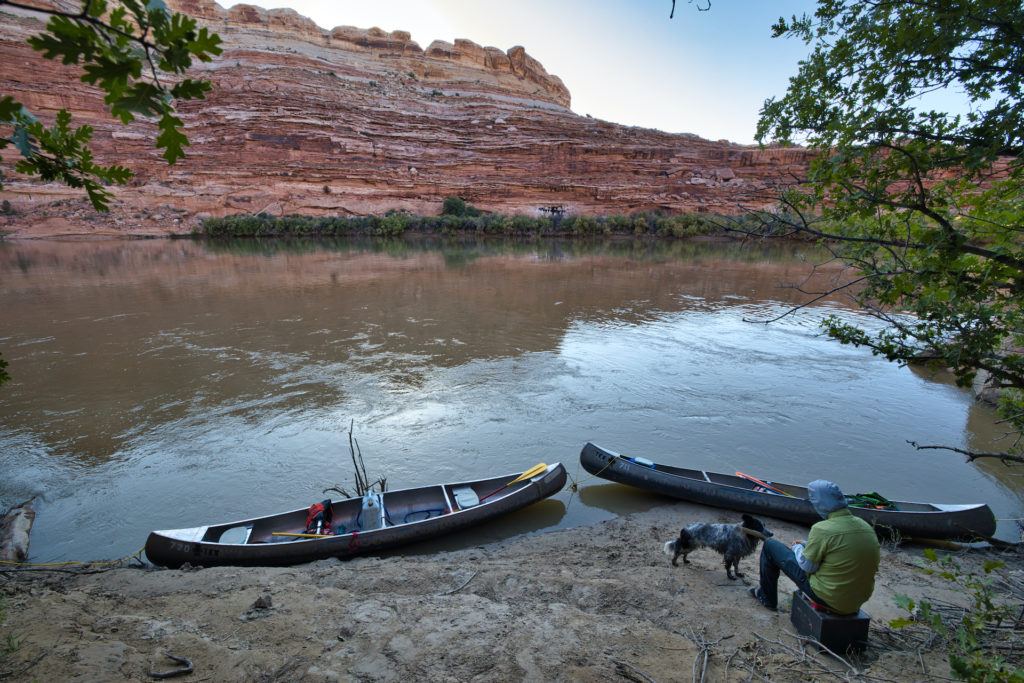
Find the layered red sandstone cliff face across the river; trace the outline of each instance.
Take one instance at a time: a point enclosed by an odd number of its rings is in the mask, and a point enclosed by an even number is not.
[[[136,173],[110,215],[81,195],[12,175],[2,193],[15,236],[184,232],[204,215],[437,213],[458,195],[481,208],[536,213],[636,210],[733,213],[772,203],[807,162],[802,150],[759,150],[581,117],[556,76],[522,47],[468,40],[426,49],[406,32],[325,31],[292,10],[175,0],[224,41],[196,75],[206,100],[182,104],[188,157],[168,167],[155,127],[124,127],[75,68],[47,61],[26,39],[41,20],[0,12],[0,82],[47,118],[71,109],[96,129],[100,161]],[[613,96],[613,93],[609,93]]]

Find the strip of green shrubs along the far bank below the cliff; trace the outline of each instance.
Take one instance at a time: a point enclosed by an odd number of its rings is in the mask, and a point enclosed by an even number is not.
[[[720,232],[722,224],[722,221],[717,221],[715,216],[709,214],[635,213],[611,216],[534,217],[481,213],[464,203],[461,207],[445,201],[444,208],[449,213],[439,216],[417,216],[400,211],[389,211],[383,216],[237,214],[207,218],[196,232],[209,238],[399,236],[406,232],[689,238]]]

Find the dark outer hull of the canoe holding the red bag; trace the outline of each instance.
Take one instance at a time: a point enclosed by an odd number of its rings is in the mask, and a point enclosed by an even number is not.
[[[384,495],[385,502],[389,498],[394,501],[395,510],[407,501],[421,501],[420,505],[432,505],[433,503],[422,503],[422,501],[432,500],[431,496],[441,488],[466,485],[475,488],[481,497],[484,497],[486,494],[483,492],[489,493],[501,486],[503,481],[509,481],[516,476],[512,474],[480,481],[388,492]],[[495,496],[493,500],[481,502],[475,507],[449,511],[429,519],[402,522],[380,529],[318,539],[273,543],[221,543],[212,540],[223,531],[240,528],[248,528],[249,533],[262,535],[264,539],[272,539],[273,530],[301,531],[305,522],[305,509],[227,524],[153,531],[145,543],[145,554],[151,562],[172,568],[186,562],[201,566],[270,566],[311,562],[330,557],[354,557],[446,536],[513,512],[561,490],[565,485],[565,468],[561,464],[549,465],[545,472],[522,483],[514,484],[509,487],[507,494],[503,492],[503,495]],[[339,518],[338,510],[343,510],[346,505],[352,503],[357,504],[358,499],[335,503],[335,519]]]

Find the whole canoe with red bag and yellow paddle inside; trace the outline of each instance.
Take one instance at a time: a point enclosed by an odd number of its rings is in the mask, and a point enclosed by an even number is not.
[[[300,538],[307,508],[225,524],[153,531],[145,555],[154,564],[282,565],[353,557],[462,530],[553,496],[565,485],[561,464],[522,474],[373,494],[332,501],[336,536]],[[376,498],[379,496],[379,498]]]

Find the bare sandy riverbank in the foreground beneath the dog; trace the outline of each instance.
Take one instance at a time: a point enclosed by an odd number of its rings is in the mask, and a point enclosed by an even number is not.
[[[677,568],[662,553],[682,524],[733,517],[667,504],[455,552],[283,568],[0,574],[0,636],[20,638],[0,670],[35,661],[12,680],[152,680],[152,670],[174,668],[163,656],[170,651],[195,665],[183,681],[689,681],[700,654],[693,641],[722,639],[706,680],[749,680],[752,668],[754,680],[842,680],[818,667],[846,676],[846,666],[800,654],[787,611],[755,604],[717,554],[699,551]],[[786,542],[806,535],[769,527]],[[852,661],[873,680],[949,675],[943,651],[900,651],[884,627],[900,614],[896,594],[957,599],[914,569],[921,561],[920,549],[883,552],[865,605],[872,646]],[[756,557],[740,569],[756,577]],[[1009,570],[1022,571],[1019,562]],[[271,606],[253,609],[265,595]]]

